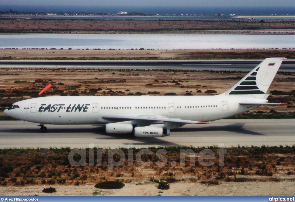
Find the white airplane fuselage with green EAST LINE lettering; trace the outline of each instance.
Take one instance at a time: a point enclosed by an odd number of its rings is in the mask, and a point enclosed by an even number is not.
[[[15,103],[9,116],[40,124],[107,124],[104,114],[157,115],[214,121],[256,108],[239,105],[245,98],[216,96],[52,96]]]

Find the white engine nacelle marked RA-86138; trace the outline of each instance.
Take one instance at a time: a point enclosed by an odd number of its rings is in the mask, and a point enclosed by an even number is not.
[[[163,137],[170,135],[170,129],[156,127],[136,127],[134,128],[135,137]]]

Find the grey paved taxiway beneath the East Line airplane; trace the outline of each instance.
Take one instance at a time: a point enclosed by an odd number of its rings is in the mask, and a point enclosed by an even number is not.
[[[222,119],[211,124],[187,124],[160,138],[132,134],[107,134],[100,125],[46,125],[24,121],[0,121],[0,148],[136,148],[168,146],[280,146],[295,144],[295,119]]]

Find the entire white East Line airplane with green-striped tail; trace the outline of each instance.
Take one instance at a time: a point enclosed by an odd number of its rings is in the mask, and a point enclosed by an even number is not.
[[[267,58],[230,90],[216,96],[51,96],[12,104],[4,111],[44,124],[105,124],[107,133],[163,137],[185,124],[203,124],[268,103],[266,94],[283,59]]]

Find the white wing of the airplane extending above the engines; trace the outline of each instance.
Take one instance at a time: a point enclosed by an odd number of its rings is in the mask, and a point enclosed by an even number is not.
[[[140,121],[148,121],[148,122],[163,121],[163,122],[183,123],[183,124],[209,124],[209,122],[168,118],[165,116],[157,116],[157,115],[105,114],[102,116],[102,118],[107,120],[112,120],[112,121],[140,120]]]

